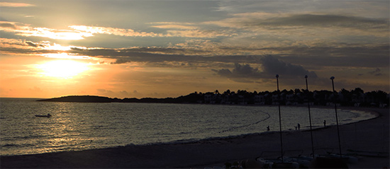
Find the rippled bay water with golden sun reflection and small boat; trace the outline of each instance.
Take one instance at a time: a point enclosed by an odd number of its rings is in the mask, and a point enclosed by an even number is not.
[[[155,103],[50,103],[0,98],[0,155],[194,141],[279,131],[277,107]],[[281,107],[282,129],[308,129],[307,107]],[[47,115],[52,117],[35,117]],[[339,123],[373,118],[338,110]],[[332,109],[311,109],[313,127],[335,124]]]

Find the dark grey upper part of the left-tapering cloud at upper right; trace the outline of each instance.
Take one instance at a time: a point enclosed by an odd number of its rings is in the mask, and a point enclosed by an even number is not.
[[[246,16],[246,18],[229,18],[225,24],[234,28],[260,27],[271,30],[286,28],[354,28],[364,31],[379,30],[388,32],[390,27],[390,23],[386,18],[364,18],[333,14],[295,14],[268,18]]]

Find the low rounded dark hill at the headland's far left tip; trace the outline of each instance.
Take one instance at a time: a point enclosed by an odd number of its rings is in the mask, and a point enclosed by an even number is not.
[[[111,103],[114,102],[113,98],[107,98],[96,95],[69,95],[61,98],[49,98],[37,101],[44,102],[79,102],[79,103]]]

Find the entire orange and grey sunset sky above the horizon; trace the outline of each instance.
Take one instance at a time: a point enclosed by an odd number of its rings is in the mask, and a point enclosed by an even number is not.
[[[0,1],[0,97],[389,93],[390,2]]]

